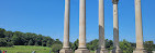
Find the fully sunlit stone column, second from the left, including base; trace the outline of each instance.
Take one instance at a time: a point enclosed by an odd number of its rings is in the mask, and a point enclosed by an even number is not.
[[[79,0],[79,47],[75,53],[90,53],[86,47],[86,0]]]

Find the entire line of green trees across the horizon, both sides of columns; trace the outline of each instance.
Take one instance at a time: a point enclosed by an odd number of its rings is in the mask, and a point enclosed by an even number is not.
[[[98,49],[99,40],[95,39],[90,42],[87,42],[87,48],[90,51],[96,51]],[[136,44],[129,42],[126,40],[120,41],[120,48],[123,53],[132,53]],[[53,52],[58,52],[63,42],[59,39],[52,39],[51,37],[45,37],[42,35],[36,35],[32,32],[21,32],[21,31],[7,31],[3,28],[0,28],[0,47],[12,47],[12,45],[42,45],[52,48]],[[78,49],[78,39],[75,42],[69,43],[73,51]],[[113,41],[106,39],[106,48],[108,50],[113,49]],[[145,41],[144,49],[152,53],[155,50],[155,44],[153,41]]]

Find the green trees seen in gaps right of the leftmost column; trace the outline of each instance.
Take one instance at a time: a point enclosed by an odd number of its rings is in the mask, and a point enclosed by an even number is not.
[[[96,51],[98,49],[98,43],[99,40],[95,39],[90,42],[87,42],[87,48],[90,51]],[[120,41],[120,49],[123,51],[123,53],[133,53],[133,50],[135,50],[136,48],[136,43],[134,42],[129,42],[125,39],[123,41]],[[73,51],[78,49],[78,39],[71,43],[70,42],[70,47],[73,49]],[[106,49],[108,49],[109,51],[113,49],[113,41],[112,40],[108,40],[106,39]],[[145,41],[144,42],[144,49],[147,51],[147,53],[152,53],[152,51],[155,51],[155,44],[153,41]]]

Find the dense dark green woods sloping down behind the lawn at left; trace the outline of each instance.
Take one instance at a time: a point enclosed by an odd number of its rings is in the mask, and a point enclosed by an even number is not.
[[[7,31],[0,28],[0,47],[12,47],[12,45],[42,45],[52,47],[54,43],[62,42],[51,37],[45,37],[42,35],[36,35],[32,32],[21,32],[21,31]]]

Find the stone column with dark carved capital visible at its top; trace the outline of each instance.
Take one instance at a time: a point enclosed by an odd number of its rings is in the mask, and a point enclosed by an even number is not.
[[[118,18],[118,2],[119,0],[112,0],[113,2],[113,47],[112,53],[121,53],[119,47],[119,18]]]

